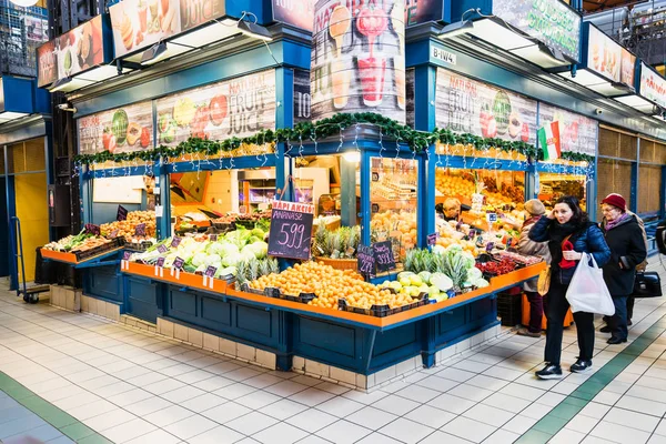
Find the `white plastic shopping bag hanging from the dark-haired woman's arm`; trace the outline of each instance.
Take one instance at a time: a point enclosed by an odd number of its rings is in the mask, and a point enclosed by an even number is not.
[[[566,291],[566,300],[574,313],[598,313],[606,316],[615,314],[615,305],[604,282],[603,271],[592,254],[583,253]]]

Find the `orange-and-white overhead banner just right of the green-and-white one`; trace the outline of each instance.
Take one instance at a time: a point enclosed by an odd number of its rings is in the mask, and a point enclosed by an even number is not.
[[[589,26],[587,68],[614,82],[633,87],[636,57],[605,33]]]

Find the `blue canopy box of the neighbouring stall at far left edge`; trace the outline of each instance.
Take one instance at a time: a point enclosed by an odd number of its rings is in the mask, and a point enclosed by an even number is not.
[[[49,93],[38,89],[33,79],[0,78],[0,124],[30,114],[50,113],[50,102]]]

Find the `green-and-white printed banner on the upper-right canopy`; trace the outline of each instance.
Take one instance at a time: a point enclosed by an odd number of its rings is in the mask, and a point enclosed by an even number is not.
[[[581,61],[581,16],[559,0],[493,0],[493,14]]]

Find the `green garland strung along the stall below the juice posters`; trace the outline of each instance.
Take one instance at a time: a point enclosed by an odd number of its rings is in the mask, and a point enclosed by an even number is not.
[[[261,130],[254,135],[242,139],[231,138],[223,141],[212,141],[190,138],[189,140],[181,142],[173,148],[160,145],[152,150],[137,152],[111,153],[109,151],[102,151],[95,154],[79,154],[74,157],[74,162],[78,164],[104,163],[109,161],[131,162],[138,160],[148,162],[155,161],[160,158],[179,158],[184,154],[194,153],[214,157],[221,152],[233,151],[243,144],[261,145],[265,143],[281,143],[294,140],[307,142],[333,138],[340,135],[341,131],[344,131],[345,129],[363,123],[379,127],[384,138],[397,140],[398,142],[406,144],[416,153],[423,152],[427,150],[430,145],[440,142],[448,145],[472,145],[477,150],[496,148],[505,152],[517,152],[526,158],[533,159],[538,159],[542,157],[542,152],[529,143],[481,138],[474,134],[456,134],[448,129],[435,129],[433,132],[416,131],[381,114],[366,112],[353,114],[339,113],[314,123],[296,123],[294,128]],[[563,153],[562,158],[576,161],[589,161],[594,159],[587,154],[571,152]]]

